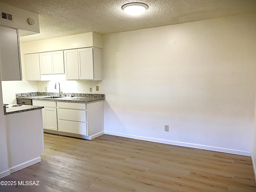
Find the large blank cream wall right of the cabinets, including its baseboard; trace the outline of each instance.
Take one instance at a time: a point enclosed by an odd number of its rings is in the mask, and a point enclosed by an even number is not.
[[[105,132],[250,155],[255,20],[256,13],[103,35]]]

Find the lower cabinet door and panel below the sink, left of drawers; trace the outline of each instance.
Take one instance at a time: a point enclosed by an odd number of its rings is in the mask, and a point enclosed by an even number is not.
[[[48,130],[58,130],[56,102],[33,100],[33,105],[44,106],[42,109],[43,128]]]

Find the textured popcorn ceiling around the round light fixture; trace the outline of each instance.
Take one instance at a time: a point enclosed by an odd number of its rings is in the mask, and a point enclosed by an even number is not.
[[[85,32],[109,34],[256,12],[256,0],[0,0],[39,14],[40,34],[22,42]],[[143,2],[148,10],[129,16],[123,4]]]

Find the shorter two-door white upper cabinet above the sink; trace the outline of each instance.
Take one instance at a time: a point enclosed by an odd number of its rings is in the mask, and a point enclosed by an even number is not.
[[[64,74],[63,51],[39,53],[41,74]]]

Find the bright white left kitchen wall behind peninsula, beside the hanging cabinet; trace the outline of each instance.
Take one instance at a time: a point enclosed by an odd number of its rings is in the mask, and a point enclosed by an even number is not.
[[[3,102],[6,104],[16,103],[16,93],[36,92],[37,83],[27,81],[25,57],[23,53],[24,43],[20,43],[22,81],[2,81]]]

